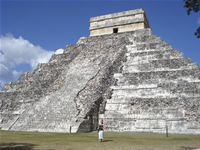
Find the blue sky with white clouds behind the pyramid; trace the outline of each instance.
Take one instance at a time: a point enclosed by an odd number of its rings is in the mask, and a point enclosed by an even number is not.
[[[0,90],[46,63],[66,45],[88,37],[90,17],[143,8],[153,34],[200,65],[200,12],[187,15],[182,0],[1,0]]]

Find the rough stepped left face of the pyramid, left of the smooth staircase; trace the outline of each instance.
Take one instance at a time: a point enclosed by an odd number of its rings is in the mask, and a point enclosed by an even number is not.
[[[82,45],[70,49],[66,46],[63,54],[52,55],[49,63],[38,64],[33,72],[22,73],[17,82],[8,82],[0,92],[1,126],[10,129],[25,110],[41,98],[59,90],[65,80],[67,66],[82,50]],[[9,123],[10,122],[10,123]],[[10,127],[8,127],[10,125]]]

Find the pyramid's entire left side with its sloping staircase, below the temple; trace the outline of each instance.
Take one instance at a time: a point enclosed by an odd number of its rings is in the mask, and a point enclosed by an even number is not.
[[[71,132],[91,131],[90,116],[114,81],[128,43],[124,34],[81,38],[63,54],[53,55],[32,73],[6,84],[1,92],[2,129],[69,132],[71,127]]]

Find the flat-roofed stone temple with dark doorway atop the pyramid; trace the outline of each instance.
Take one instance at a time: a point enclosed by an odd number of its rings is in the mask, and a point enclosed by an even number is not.
[[[151,28],[144,9],[129,10],[90,18],[90,36]]]

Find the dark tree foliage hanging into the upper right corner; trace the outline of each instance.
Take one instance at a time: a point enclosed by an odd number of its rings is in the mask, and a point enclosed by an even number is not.
[[[187,14],[190,15],[191,11],[197,13],[200,11],[200,0],[183,0],[185,2],[185,6],[187,10]],[[194,33],[197,38],[200,38],[200,27]]]

